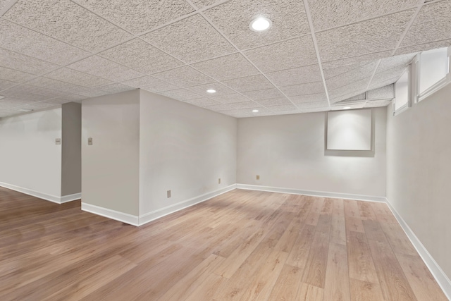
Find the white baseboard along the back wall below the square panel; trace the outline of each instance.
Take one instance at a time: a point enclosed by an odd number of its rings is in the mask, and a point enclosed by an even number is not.
[[[326,192],[314,190],[299,190],[294,188],[280,188],[261,185],[237,184],[237,189],[259,190],[268,192],[290,193],[292,195],[311,195],[314,197],[332,197],[335,199],[357,199],[359,201],[386,202],[385,197],[377,197],[373,195],[354,195],[351,193]]]

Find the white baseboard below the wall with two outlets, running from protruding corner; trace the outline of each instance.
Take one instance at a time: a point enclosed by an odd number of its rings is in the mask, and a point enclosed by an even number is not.
[[[212,197],[217,197],[218,195],[222,195],[223,193],[229,192],[230,190],[234,190],[235,188],[236,184],[233,184],[225,188],[214,190],[212,192],[207,192],[204,195],[199,195],[198,197],[193,197],[192,199],[187,199],[186,201],[179,202],[177,204],[173,204],[171,206],[164,207],[161,209],[157,209],[147,214],[143,214],[142,216],[140,216],[140,226],[144,225],[144,223],[149,223],[168,214],[172,214],[176,211],[180,211],[187,207],[191,207],[192,205],[205,202],[206,200],[211,199]]]

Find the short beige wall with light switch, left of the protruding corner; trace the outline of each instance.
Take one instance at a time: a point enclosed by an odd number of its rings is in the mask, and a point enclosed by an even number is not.
[[[140,91],[83,101],[82,202],[137,216],[139,159]]]

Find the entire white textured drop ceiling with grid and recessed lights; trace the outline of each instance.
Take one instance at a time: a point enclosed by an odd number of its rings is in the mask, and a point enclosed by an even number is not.
[[[450,0],[0,0],[0,118],[137,88],[234,117],[386,106],[450,20]]]

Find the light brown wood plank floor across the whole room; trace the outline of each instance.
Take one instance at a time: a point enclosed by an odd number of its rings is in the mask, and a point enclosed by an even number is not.
[[[0,188],[0,300],[447,300],[385,204],[233,190],[140,228]]]

